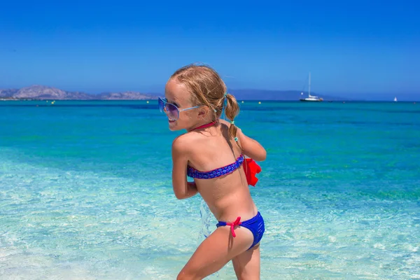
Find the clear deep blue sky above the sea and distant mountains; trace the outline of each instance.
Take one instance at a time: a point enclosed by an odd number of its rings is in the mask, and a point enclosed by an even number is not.
[[[420,99],[420,1],[8,1],[0,88],[162,92],[191,62],[231,88]],[[293,3],[292,3],[293,2]]]

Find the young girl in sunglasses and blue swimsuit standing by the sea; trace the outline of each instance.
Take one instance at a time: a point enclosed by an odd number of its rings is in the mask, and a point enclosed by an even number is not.
[[[177,279],[203,279],[230,260],[238,279],[260,279],[264,220],[251,198],[243,162],[245,155],[265,160],[265,149],[235,126],[237,101],[210,67],[177,70],[167,82],[165,97],[159,105],[167,114],[169,130],[187,131],[172,144],[176,198],[200,193],[219,221]],[[220,119],[224,107],[230,123]]]

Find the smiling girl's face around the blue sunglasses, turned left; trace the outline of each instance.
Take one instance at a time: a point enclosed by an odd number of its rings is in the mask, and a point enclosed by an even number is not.
[[[178,120],[171,120],[168,118],[169,130],[188,130],[189,127],[195,125],[199,108],[181,111],[182,109],[194,106],[191,104],[191,94],[188,92],[185,85],[178,83],[173,79],[169,80],[165,87],[165,97],[167,98],[168,103],[174,104],[180,111]]]

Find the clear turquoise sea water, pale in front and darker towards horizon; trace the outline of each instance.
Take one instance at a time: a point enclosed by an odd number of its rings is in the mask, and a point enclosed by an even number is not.
[[[420,279],[420,104],[248,102],[261,279]],[[176,200],[155,101],[0,102],[0,279],[175,279],[216,221]],[[209,279],[236,279],[227,265]]]

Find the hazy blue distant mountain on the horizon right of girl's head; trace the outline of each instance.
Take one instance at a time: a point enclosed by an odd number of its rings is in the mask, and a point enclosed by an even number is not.
[[[283,101],[297,101],[301,97],[299,90],[228,90],[228,92],[235,95],[237,99],[253,99],[253,100],[283,100]],[[325,101],[336,100],[350,100],[341,97],[332,97],[324,94],[316,94],[311,92],[311,95],[318,95]],[[307,97],[308,92],[303,92],[303,96]]]

